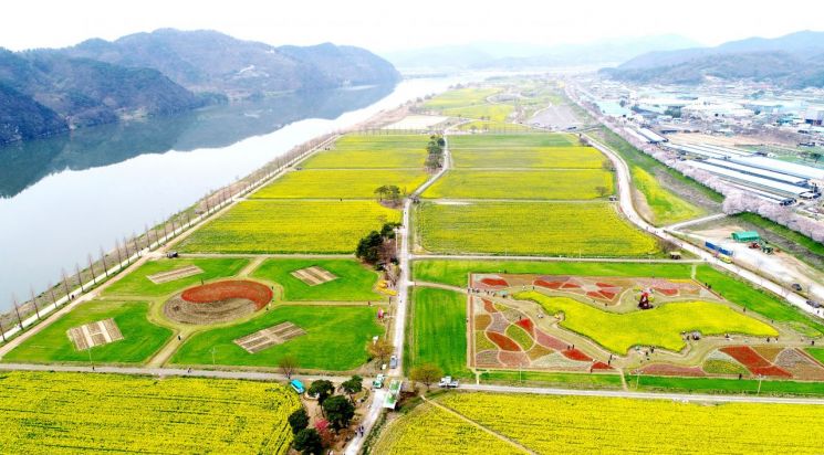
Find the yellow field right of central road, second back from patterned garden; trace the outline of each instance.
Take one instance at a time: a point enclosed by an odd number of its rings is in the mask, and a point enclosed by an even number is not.
[[[603,188],[601,194],[596,188]],[[423,194],[430,199],[596,199],[613,193],[613,174],[587,170],[450,170]]]

